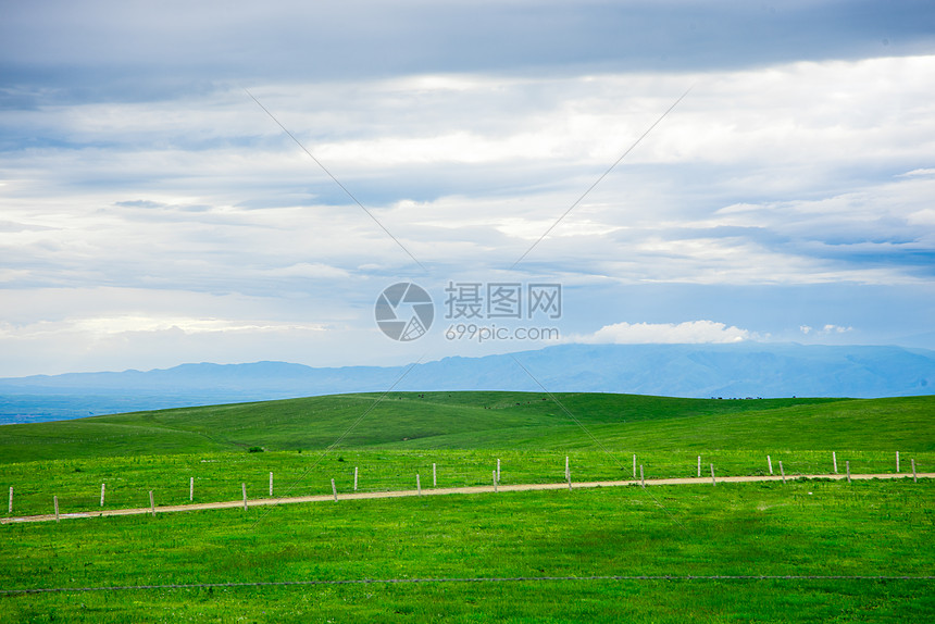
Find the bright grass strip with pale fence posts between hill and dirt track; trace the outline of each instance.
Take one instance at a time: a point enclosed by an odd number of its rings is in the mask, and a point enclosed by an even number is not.
[[[267,457],[258,459],[263,454]],[[918,454],[923,457],[926,465],[935,461],[933,453]],[[710,478],[714,485],[718,479],[728,476],[781,473],[785,481],[801,474],[835,474],[842,467],[842,461],[846,470],[855,474],[894,474],[900,467],[905,469],[901,474],[913,477],[921,469],[914,457],[909,459],[910,465],[907,466],[906,457],[903,453],[901,465],[895,452],[878,451],[720,451],[701,454],[697,451],[626,454],[597,451],[397,451],[344,453],[324,461],[321,461],[320,453],[254,453],[249,460],[227,453],[197,460],[197,463],[189,459],[187,465],[179,458],[163,462],[159,461],[162,458],[151,458],[144,464],[152,470],[146,471],[132,470],[138,462],[116,462],[126,469],[122,476],[117,471],[102,475],[100,471],[88,467],[96,465],[94,462],[87,462],[85,465],[91,474],[80,467],[63,472],[59,475],[63,478],[57,479],[54,488],[48,487],[50,475],[36,473],[42,478],[37,479],[34,474],[30,481],[26,471],[21,471],[23,478],[20,483],[9,486],[8,515],[51,513],[53,497],[67,512],[88,512],[239,498],[246,501],[248,498],[333,495],[337,499],[338,494],[352,491],[421,490],[429,487],[428,483],[437,488],[491,484],[496,487],[503,483],[568,482],[571,486],[572,482],[697,478],[702,475],[702,464],[705,467],[710,465]],[[59,469],[67,469],[75,462],[60,463]],[[271,465],[274,470],[267,470]],[[236,470],[238,467],[240,470]],[[774,473],[774,469],[778,470]],[[64,478],[66,476],[71,478]],[[103,478],[97,482],[94,476]],[[154,492],[155,503],[149,496],[150,491]]]

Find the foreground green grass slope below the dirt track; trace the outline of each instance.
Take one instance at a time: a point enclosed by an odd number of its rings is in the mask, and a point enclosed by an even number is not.
[[[5,526],[2,587],[351,578],[935,574],[933,484],[345,501]],[[654,497],[654,498],[653,498]],[[660,509],[664,506],[665,511]],[[9,545],[15,544],[15,548]],[[0,597],[10,621],[925,622],[931,581],[532,582]],[[2,617],[0,617],[2,620]]]

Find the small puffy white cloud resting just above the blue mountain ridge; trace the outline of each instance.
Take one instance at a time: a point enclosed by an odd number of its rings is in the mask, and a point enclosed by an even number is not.
[[[684,323],[614,323],[604,325],[594,334],[572,335],[565,341],[586,344],[700,344],[740,342],[755,336],[747,329],[727,326],[713,321]]]

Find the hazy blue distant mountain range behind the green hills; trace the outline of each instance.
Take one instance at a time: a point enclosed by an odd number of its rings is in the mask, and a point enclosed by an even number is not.
[[[522,363],[522,366],[518,364]],[[670,397],[896,397],[935,394],[935,351],[795,344],[560,345],[409,366],[286,362],[0,379],[0,424],[396,390],[596,391]],[[525,370],[524,370],[525,369]],[[400,379],[400,377],[402,378]]]

